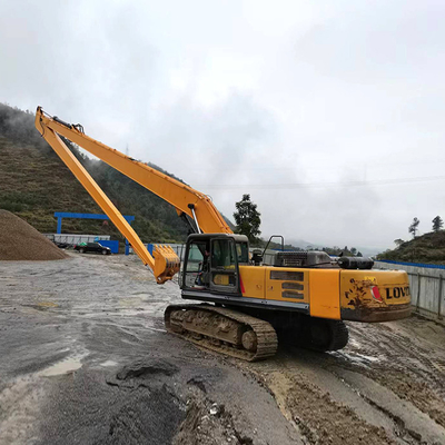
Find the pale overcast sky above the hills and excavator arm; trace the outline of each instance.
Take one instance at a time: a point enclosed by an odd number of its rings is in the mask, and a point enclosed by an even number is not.
[[[445,1],[22,1],[0,101],[38,105],[263,235],[392,247],[445,218]],[[429,178],[429,179],[425,179]]]

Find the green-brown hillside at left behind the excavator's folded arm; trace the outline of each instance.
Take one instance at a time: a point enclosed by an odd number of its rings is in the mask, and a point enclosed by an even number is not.
[[[31,112],[0,103],[0,208],[42,233],[56,231],[55,211],[102,214],[40,137],[33,119]],[[106,164],[81,156],[76,147],[71,149],[119,210],[136,216],[132,225],[144,241],[186,238],[187,227],[170,205]],[[112,224],[96,220],[63,219],[62,230],[121,238]]]

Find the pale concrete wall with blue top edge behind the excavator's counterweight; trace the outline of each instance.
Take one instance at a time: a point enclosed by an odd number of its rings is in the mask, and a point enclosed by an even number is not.
[[[445,323],[445,269],[432,268],[427,265],[419,267],[406,263],[385,261],[376,261],[374,268],[406,270],[415,312],[427,318]]]

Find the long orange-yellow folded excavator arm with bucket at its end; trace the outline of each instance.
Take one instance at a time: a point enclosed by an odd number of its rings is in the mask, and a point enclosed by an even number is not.
[[[178,215],[187,215],[195,220],[198,233],[216,231],[231,234],[230,228],[206,195],[86,136],[82,126],[63,122],[57,117],[48,116],[41,107],[38,107],[36,112],[36,128],[99,207],[107,214],[118,230],[129,240],[142,263],[154,270],[157,283],[162,284],[171,279],[179,270],[180,260],[178,256],[167,246],[158,246],[155,249],[154,256],[149,254],[132,227],[75,157],[60,136],[82,147],[91,155],[95,155],[175,206]]]

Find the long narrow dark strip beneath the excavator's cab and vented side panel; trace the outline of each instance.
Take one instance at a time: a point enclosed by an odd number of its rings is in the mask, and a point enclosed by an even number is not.
[[[297,313],[309,314],[309,305],[307,303],[297,301],[278,301],[273,299],[259,299],[251,297],[235,297],[228,295],[216,295],[206,291],[182,290],[184,299],[197,299],[200,301],[212,301],[220,304],[241,305],[250,307],[267,307],[268,309],[288,309]]]

